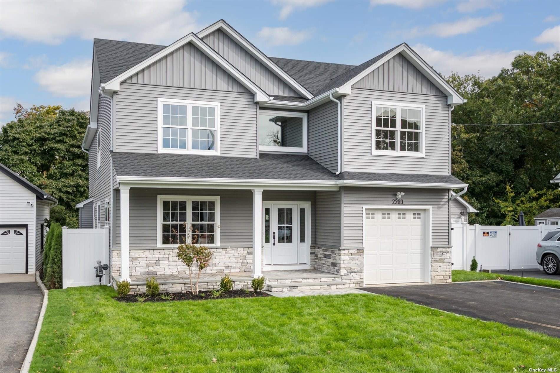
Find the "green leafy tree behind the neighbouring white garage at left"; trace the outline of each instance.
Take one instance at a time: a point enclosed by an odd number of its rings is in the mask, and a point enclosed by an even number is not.
[[[88,157],[81,149],[88,113],[61,106],[18,104],[2,127],[0,162],[58,199],[65,219],[88,195]]]

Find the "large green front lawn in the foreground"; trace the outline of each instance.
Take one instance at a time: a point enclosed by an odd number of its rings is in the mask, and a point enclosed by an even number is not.
[[[388,296],[123,303],[49,291],[35,372],[504,372],[560,367],[560,339]],[[523,367],[525,366],[525,367]]]

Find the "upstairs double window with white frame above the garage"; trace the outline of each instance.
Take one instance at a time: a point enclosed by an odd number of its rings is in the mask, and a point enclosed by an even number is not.
[[[424,106],[372,102],[373,155],[423,157]]]

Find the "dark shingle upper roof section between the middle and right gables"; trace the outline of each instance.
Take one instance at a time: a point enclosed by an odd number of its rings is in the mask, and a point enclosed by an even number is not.
[[[330,80],[356,67],[340,63],[269,58],[314,95]]]

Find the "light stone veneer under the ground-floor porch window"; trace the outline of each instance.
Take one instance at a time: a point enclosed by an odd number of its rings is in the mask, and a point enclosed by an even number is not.
[[[253,248],[212,248],[208,268],[202,273],[252,272]],[[130,276],[187,274],[189,269],[177,258],[177,249],[130,249]],[[120,250],[111,251],[113,277],[120,276]]]

